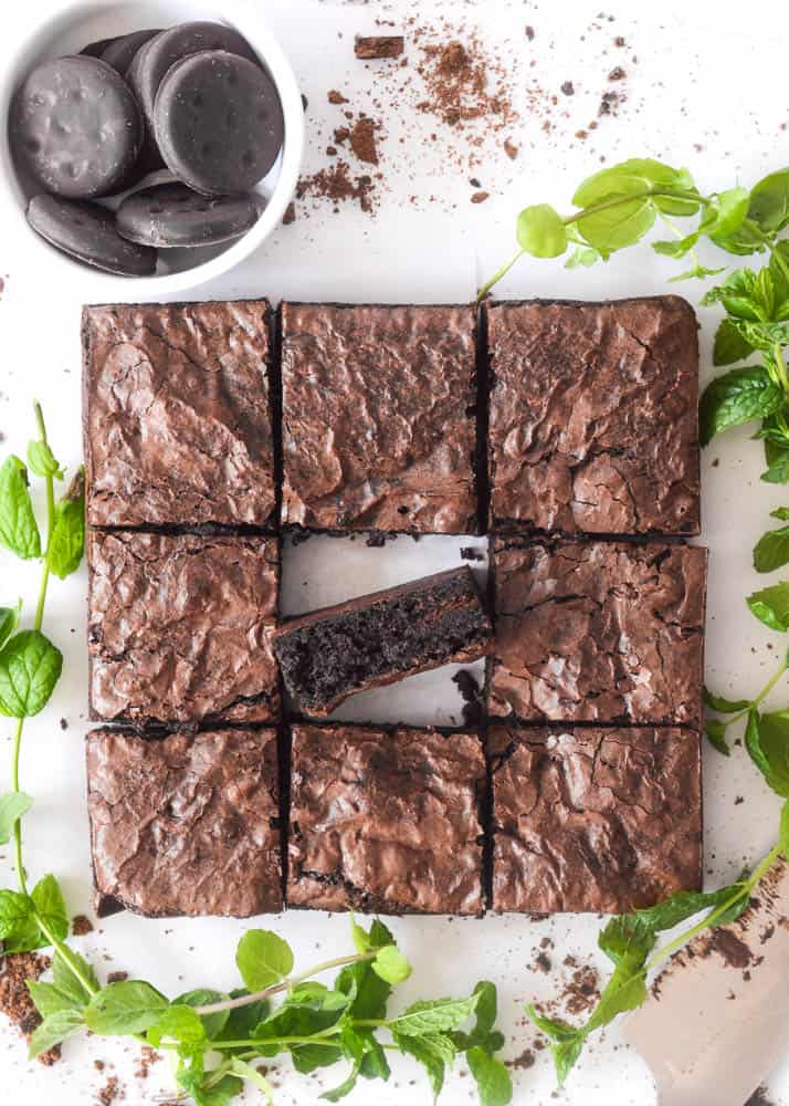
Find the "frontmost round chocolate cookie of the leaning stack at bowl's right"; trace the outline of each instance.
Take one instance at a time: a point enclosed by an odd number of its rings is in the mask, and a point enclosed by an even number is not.
[[[249,191],[276,160],[285,133],[272,79],[223,50],[203,50],[168,70],[155,122],[167,167],[207,196]]]

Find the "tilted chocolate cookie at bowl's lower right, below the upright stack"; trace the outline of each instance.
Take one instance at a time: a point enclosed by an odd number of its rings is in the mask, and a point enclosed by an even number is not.
[[[249,196],[208,197],[186,185],[144,188],[117,210],[118,232],[132,242],[168,249],[213,246],[239,238],[257,220]]]

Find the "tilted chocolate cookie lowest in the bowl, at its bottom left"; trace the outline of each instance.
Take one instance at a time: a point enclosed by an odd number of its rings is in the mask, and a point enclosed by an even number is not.
[[[156,250],[122,238],[112,212],[98,204],[34,196],[28,222],[52,246],[96,269],[122,276],[151,276],[156,271]]]

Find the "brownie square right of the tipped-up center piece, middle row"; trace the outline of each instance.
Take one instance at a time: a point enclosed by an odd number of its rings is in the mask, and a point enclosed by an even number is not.
[[[493,573],[492,714],[698,724],[705,549],[499,538]]]

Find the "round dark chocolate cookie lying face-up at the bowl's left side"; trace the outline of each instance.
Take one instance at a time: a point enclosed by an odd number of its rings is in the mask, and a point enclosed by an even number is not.
[[[143,138],[139,108],[118,73],[73,55],[33,70],[11,105],[11,148],[48,191],[84,199],[127,177]]]

